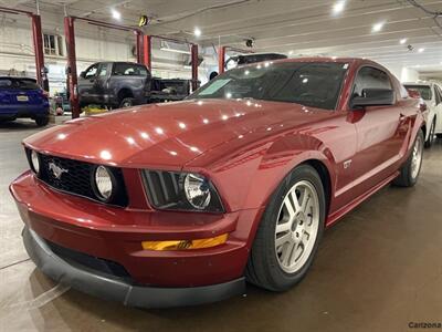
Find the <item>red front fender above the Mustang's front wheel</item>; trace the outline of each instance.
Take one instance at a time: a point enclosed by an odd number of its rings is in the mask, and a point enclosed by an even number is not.
[[[186,172],[198,172],[211,179],[228,211],[265,207],[284,177],[309,160],[326,167],[334,187],[335,158],[314,136],[281,135],[232,151],[211,165],[185,167]]]

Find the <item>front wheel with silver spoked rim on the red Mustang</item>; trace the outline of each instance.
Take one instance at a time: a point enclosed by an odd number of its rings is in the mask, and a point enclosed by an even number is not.
[[[317,172],[296,167],[267,205],[249,257],[249,282],[284,291],[307,273],[323,237],[326,199]]]

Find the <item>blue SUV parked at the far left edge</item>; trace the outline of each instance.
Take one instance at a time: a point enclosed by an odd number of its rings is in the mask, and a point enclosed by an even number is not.
[[[38,126],[49,123],[49,98],[34,79],[0,76],[0,121],[30,117]]]

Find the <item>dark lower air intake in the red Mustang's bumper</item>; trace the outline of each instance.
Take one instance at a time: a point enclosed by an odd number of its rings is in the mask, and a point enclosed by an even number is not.
[[[69,262],[70,264],[80,266],[81,268],[87,268],[95,272],[99,272],[109,277],[131,280],[131,277],[127,272],[127,270],[122,264],[115,261],[61,247],[48,240],[45,240],[45,242],[56,256],[59,256],[61,259]]]

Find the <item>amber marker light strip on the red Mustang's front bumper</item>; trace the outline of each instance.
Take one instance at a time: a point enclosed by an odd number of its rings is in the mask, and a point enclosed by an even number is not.
[[[171,240],[171,241],[143,241],[145,250],[191,250],[217,247],[225,243],[228,235],[223,234],[214,238],[197,240]]]

